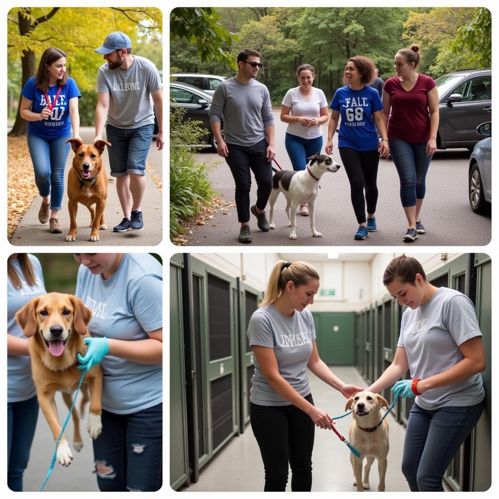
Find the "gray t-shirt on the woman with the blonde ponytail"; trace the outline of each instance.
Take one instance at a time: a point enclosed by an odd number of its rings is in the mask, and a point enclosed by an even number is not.
[[[286,317],[274,305],[261,307],[251,315],[247,334],[250,346],[273,348],[279,374],[302,397],[310,394],[307,364],[312,354],[315,327],[309,310],[295,310],[291,317]],[[291,405],[268,384],[256,358],[251,385],[250,400],[253,404]]]

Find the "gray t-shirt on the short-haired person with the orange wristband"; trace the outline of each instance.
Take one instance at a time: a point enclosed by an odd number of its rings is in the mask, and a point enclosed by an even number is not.
[[[402,315],[397,346],[406,350],[411,378],[425,379],[463,360],[459,345],[482,336],[475,307],[463,293],[440,287],[424,305]],[[467,407],[480,403],[485,391],[480,374],[453,385],[433,388],[416,397],[423,409]]]

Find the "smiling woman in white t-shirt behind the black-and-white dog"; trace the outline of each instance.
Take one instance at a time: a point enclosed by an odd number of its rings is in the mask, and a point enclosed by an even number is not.
[[[294,171],[304,170],[307,158],[322,150],[321,125],[329,119],[327,100],[320,88],[312,86],[313,66],[302,64],[296,71],[299,86],[290,88],[282,99],[281,121],[288,123],[285,146]],[[308,216],[308,206],[300,205]]]

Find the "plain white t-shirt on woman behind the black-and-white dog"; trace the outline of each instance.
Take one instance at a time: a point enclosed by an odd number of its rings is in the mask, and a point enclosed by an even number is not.
[[[318,118],[320,110],[327,107],[327,100],[324,92],[320,88],[312,87],[312,96],[308,102],[305,102],[301,95],[300,87],[290,88],[284,98],[282,105],[290,107],[291,116],[305,116],[305,118]],[[291,135],[297,135],[303,139],[316,139],[322,136],[320,124],[313,127],[303,126],[299,122],[291,122],[287,125],[286,132]]]

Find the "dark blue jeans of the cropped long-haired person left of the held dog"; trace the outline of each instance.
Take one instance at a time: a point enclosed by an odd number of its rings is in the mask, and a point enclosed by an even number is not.
[[[22,402],[7,402],[7,487],[11,491],[22,492],[22,475],[28,465],[37,419],[36,395]]]

